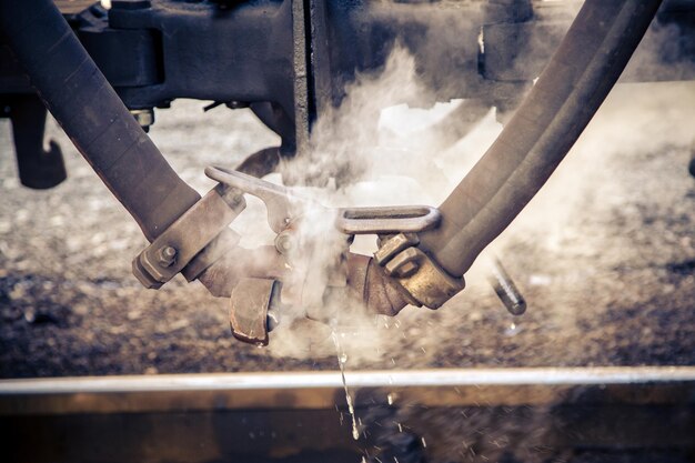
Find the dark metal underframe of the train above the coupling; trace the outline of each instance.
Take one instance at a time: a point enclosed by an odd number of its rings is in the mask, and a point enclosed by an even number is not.
[[[413,53],[434,100],[513,108],[572,19],[564,7],[530,0],[113,0],[109,11],[93,4],[66,16],[128,108],[167,108],[178,98],[250,107],[281,135],[284,155],[303,150],[321,112],[340,104],[345,83],[381,68],[395,42]],[[624,79],[695,79],[695,1],[666,2],[653,28],[667,24],[677,28],[677,40],[662,59],[685,66],[675,74],[673,67],[636,67]],[[31,122],[18,115],[34,104],[31,94],[0,47],[0,107],[20,125],[16,132],[43,123],[40,111]],[[20,158],[37,158],[36,143],[24,139],[16,137]]]

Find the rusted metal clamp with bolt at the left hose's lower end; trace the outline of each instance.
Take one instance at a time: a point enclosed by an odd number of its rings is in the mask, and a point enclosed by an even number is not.
[[[239,242],[240,236],[228,225],[245,207],[238,190],[216,185],[138,254],[133,274],[149,289],[160,288],[181,271],[187,280],[195,279],[230,243]],[[224,240],[218,240],[219,235]]]

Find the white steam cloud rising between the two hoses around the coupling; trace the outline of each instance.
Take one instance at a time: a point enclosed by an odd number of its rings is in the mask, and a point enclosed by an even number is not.
[[[479,102],[407,105],[431,98],[417,78],[414,57],[396,44],[381,72],[361,74],[346,88],[342,105],[316,123],[311,151],[283,165],[283,177],[298,184],[300,194],[331,208],[439,204],[501,125],[494,111]],[[470,137],[460,140],[467,131]],[[352,368],[381,358],[390,341],[404,334],[397,320],[366,314],[345,298],[322,298],[348,245],[333,219],[321,207],[308,210],[299,223],[303,244],[289,255],[293,268],[308,270],[294,272],[302,281],[290,284],[304,292],[296,298],[303,303],[301,312],[325,324],[304,316],[283,322],[272,334],[270,351],[299,358],[332,355],[338,333]],[[357,236],[351,250],[370,255],[375,239]]]

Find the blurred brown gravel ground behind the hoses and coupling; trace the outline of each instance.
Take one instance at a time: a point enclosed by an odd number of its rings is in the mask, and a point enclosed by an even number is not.
[[[204,165],[233,165],[276,138],[245,111],[202,105],[158,112],[151,135],[204,192]],[[476,264],[441,310],[346,330],[348,368],[695,364],[693,121],[692,83],[621,85],[494,244],[527,313],[508,315]],[[483,121],[476,150],[496,131]],[[226,301],[202,285],[142,289],[130,262],[145,240],[54,123],[49,133],[69,179],[31,191],[0,121],[1,378],[336,368],[330,331],[315,322],[283,326],[258,349],[231,336]]]

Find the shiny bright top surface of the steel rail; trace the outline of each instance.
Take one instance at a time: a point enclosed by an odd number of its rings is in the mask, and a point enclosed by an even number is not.
[[[695,366],[443,369],[345,372],[351,387],[602,385],[695,382]],[[0,395],[342,387],[340,372],[210,373],[0,380]]]

